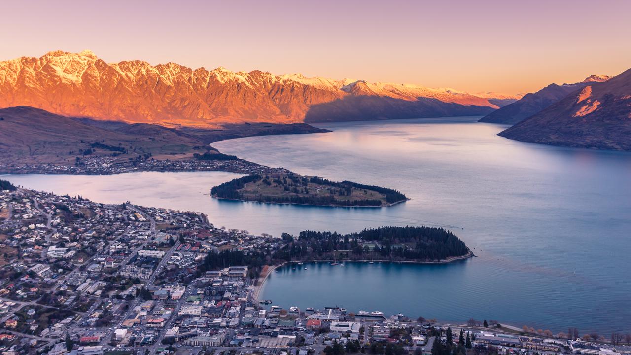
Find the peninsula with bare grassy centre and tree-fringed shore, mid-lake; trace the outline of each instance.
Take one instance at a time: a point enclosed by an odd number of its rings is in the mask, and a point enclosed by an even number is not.
[[[228,200],[342,207],[384,207],[408,200],[388,188],[351,181],[338,183],[293,172],[242,176],[213,187],[211,195]]]

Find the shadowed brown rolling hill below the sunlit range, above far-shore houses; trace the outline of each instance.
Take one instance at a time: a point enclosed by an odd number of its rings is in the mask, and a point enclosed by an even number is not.
[[[143,124],[105,129],[85,119],[59,116],[33,107],[0,109],[0,155],[41,162],[70,162],[88,155],[169,155],[193,152],[198,138],[172,128]]]

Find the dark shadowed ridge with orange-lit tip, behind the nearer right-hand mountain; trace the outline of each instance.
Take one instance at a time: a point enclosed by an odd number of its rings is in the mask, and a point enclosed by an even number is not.
[[[480,122],[516,124],[522,119],[533,116],[537,112],[563,99],[569,93],[586,87],[590,83],[609,80],[606,75],[592,75],[574,84],[550,84],[535,93],[527,93],[521,99],[493,111],[480,119]]]

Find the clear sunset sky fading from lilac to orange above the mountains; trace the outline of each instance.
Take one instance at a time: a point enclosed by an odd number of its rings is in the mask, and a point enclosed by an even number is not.
[[[631,68],[631,1],[4,1],[0,60],[90,49],[232,71],[533,92]]]

